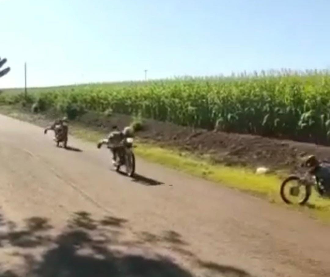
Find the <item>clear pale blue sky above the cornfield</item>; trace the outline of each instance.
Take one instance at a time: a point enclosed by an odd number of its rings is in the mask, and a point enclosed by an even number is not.
[[[0,0],[0,87],[330,67],[329,0]]]

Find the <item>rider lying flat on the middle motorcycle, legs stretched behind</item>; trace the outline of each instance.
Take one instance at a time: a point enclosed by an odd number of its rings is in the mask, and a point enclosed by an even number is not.
[[[107,136],[106,139],[101,139],[97,143],[97,148],[101,148],[103,144],[107,144],[108,148],[112,152],[112,163],[117,166],[116,154],[117,149],[120,147],[120,143],[123,139],[133,137],[133,130],[131,127],[127,126],[122,131],[119,131],[118,126],[113,126],[113,131]]]

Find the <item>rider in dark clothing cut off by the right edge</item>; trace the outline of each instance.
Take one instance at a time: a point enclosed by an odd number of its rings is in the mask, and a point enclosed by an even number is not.
[[[314,155],[310,155],[303,162],[303,166],[309,168],[306,175],[314,175],[318,179],[323,193],[330,194],[330,163],[320,163]],[[310,182],[306,177],[304,181]]]

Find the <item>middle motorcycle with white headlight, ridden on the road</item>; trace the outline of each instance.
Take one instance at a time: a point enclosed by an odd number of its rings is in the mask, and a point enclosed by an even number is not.
[[[116,164],[115,169],[118,172],[122,166],[125,166],[126,175],[133,177],[135,173],[135,155],[132,150],[133,138],[125,138],[122,140],[119,146],[115,147],[116,151]],[[111,146],[108,146],[111,149]]]

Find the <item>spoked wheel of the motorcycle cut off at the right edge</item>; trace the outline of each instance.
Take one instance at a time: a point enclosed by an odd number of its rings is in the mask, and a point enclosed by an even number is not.
[[[304,205],[311,196],[311,186],[302,185],[300,178],[291,175],[281,185],[281,198],[287,204]]]

